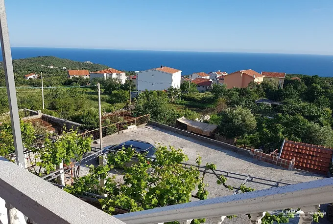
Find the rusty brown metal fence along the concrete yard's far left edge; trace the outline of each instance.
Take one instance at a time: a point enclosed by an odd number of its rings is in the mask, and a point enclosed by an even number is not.
[[[121,122],[116,122],[116,123],[112,123],[109,124],[107,126],[102,127],[102,137],[108,136],[108,135],[112,135],[114,133],[117,133],[121,130],[125,130],[128,126],[131,125],[142,125],[145,123],[148,123],[150,120],[150,116],[149,114],[140,116],[140,117],[136,117],[136,118],[132,118],[132,119],[128,119],[125,121],[121,121]],[[91,131],[87,131],[81,134],[83,137],[88,137],[88,136],[92,136],[92,138],[95,139],[99,139],[99,128],[91,130]]]

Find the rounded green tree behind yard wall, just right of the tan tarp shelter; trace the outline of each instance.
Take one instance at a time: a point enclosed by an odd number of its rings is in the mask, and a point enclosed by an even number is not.
[[[219,132],[228,138],[237,138],[252,133],[256,126],[256,118],[251,111],[240,106],[226,109],[221,113]]]

